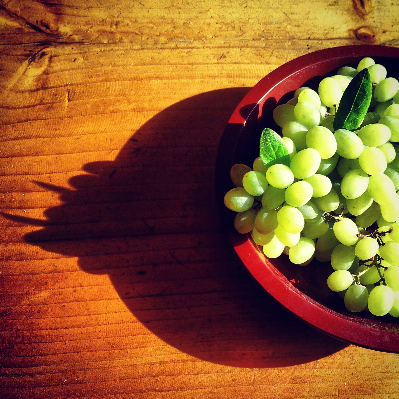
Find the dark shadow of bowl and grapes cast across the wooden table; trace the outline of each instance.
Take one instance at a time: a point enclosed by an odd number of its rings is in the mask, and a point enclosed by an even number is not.
[[[57,189],[62,204],[45,210],[44,223],[18,221],[41,227],[26,243],[77,257],[87,273],[107,273],[130,312],[174,348],[223,365],[290,366],[347,344],[272,298],[224,232],[217,147],[248,91],[221,89],[175,103],[134,132],[114,161],[85,164],[68,180],[71,189],[36,182]]]

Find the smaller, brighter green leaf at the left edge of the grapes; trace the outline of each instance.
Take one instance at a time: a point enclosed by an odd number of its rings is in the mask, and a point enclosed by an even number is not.
[[[290,154],[287,147],[279,134],[272,129],[263,129],[259,152],[263,163],[268,167],[274,164],[290,166]]]

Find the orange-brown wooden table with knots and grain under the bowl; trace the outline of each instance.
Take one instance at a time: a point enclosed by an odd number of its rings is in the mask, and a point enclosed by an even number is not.
[[[0,397],[398,398],[259,287],[213,178],[250,87],[398,46],[398,1],[59,1],[0,0]]]

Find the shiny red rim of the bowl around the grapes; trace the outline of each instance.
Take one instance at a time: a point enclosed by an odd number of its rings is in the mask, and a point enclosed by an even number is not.
[[[277,67],[245,95],[225,127],[217,152],[215,184],[219,211],[224,222],[227,219],[231,220],[231,216],[227,215],[231,211],[228,211],[223,204],[225,185],[218,183],[229,176],[239,135],[247,118],[256,110],[259,103],[282,81],[304,69],[318,63],[367,56],[399,59],[399,48],[382,45],[347,45],[313,51]],[[243,109],[245,113],[242,112]],[[363,348],[399,353],[399,326],[397,324],[359,317],[356,313],[353,316],[341,313],[310,298],[296,286],[287,284],[283,280],[283,274],[271,264],[269,259],[259,253],[248,235],[239,234],[231,228],[231,225],[223,224],[245,267],[271,296],[296,316],[344,342]]]

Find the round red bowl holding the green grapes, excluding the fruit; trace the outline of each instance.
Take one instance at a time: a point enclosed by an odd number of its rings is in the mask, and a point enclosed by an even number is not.
[[[223,132],[215,172],[220,213],[235,251],[255,279],[291,312],[325,333],[365,348],[399,353],[399,320],[389,315],[374,317],[367,311],[350,313],[326,279],[330,263],[293,265],[288,257],[266,259],[250,235],[234,230],[235,213],[223,204],[233,188],[230,168],[243,163],[252,166],[259,156],[259,139],[265,127],[279,131],[272,118],[276,105],[293,97],[298,87],[316,88],[324,76],[342,66],[356,68],[363,57],[372,57],[387,68],[387,76],[398,76],[399,49],[377,45],[335,47],[309,53],[275,69],[255,85],[239,103]]]

